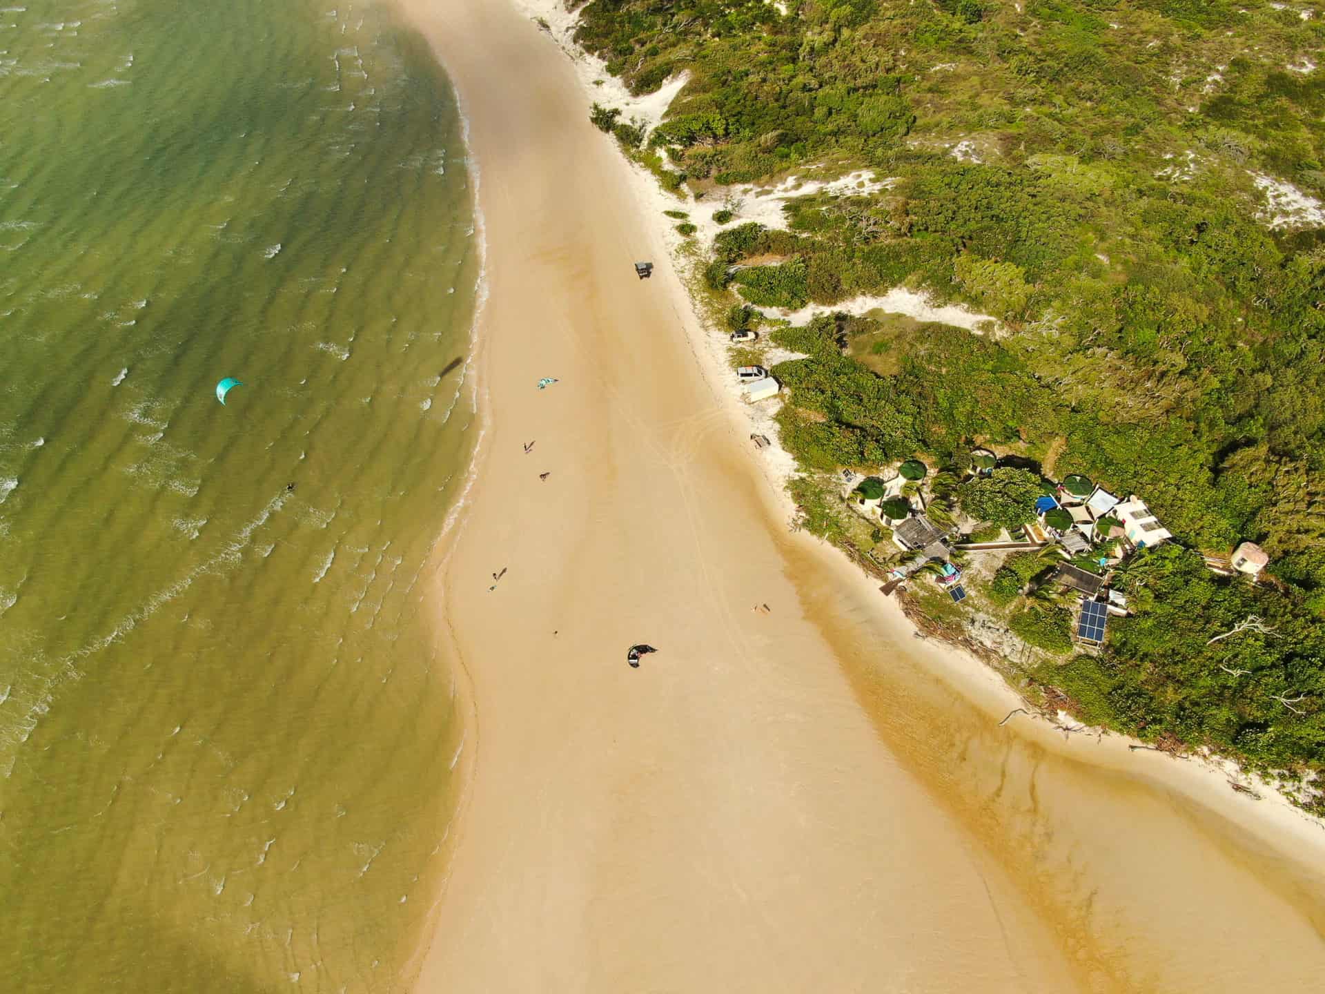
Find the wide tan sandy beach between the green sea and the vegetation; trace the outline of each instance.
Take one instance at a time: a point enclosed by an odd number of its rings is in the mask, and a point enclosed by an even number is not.
[[[788,533],[566,56],[502,0],[403,3],[470,121],[490,292],[439,577],[468,786],[416,989],[1318,982],[1314,823],[1121,741],[999,728],[1007,688]]]

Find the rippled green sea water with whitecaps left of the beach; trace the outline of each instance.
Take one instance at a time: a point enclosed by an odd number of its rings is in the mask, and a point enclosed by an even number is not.
[[[0,11],[0,989],[399,989],[461,747],[469,183],[372,7]]]

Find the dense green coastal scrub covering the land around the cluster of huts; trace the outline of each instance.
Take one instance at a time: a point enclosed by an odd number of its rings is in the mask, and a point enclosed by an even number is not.
[[[790,201],[786,231],[722,231],[716,293],[831,306],[905,284],[1000,322],[996,337],[843,315],[774,331],[808,357],[774,370],[803,467],[962,469],[990,447],[1027,467],[959,490],[991,524],[1028,520],[1043,463],[1143,496],[1191,549],[1259,542],[1263,587],[1181,549],[1140,557],[1136,616],[1110,624],[1102,656],[1040,679],[1142,736],[1325,758],[1325,239],[1268,228],[1255,180],[1325,197],[1325,73],[1291,69],[1317,61],[1322,19],[1265,0],[800,0],[786,16],[591,0],[578,38],[636,93],[689,73],[631,151],[672,188],[892,178]],[[595,114],[632,148],[629,125]],[[1281,634],[1204,648],[1239,612]],[[1015,619],[1061,651],[1059,614]],[[1255,667],[1228,655],[1248,647]]]

